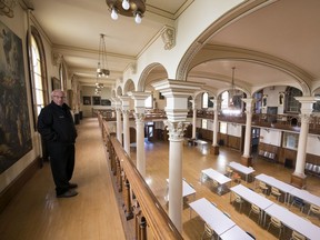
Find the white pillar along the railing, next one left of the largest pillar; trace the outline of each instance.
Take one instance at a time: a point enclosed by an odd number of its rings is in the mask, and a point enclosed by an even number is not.
[[[134,118],[137,130],[137,169],[146,177],[146,151],[144,151],[144,100],[150,96],[148,92],[128,92],[134,100]]]

